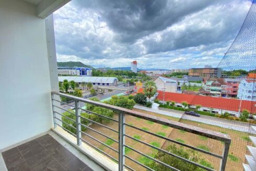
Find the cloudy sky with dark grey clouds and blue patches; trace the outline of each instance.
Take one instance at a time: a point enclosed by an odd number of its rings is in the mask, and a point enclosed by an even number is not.
[[[216,67],[247,0],[72,0],[54,13],[58,61],[93,67]]]

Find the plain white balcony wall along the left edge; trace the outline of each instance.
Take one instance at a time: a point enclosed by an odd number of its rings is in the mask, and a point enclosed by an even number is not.
[[[0,149],[52,126],[45,20],[35,10],[0,0]]]

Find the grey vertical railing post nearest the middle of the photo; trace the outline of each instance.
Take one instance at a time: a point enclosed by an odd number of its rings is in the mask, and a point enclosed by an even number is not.
[[[118,164],[119,164],[119,171],[124,170],[124,133],[125,133],[125,114],[123,112],[119,113],[119,157],[118,157]]]

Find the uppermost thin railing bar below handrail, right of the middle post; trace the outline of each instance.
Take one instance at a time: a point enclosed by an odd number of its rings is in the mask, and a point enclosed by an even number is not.
[[[215,157],[218,157],[218,158],[221,158],[221,159],[223,158],[223,156],[221,156],[221,155],[218,155],[218,154],[215,154],[215,153],[211,153],[211,152],[207,152],[207,151],[205,151],[205,150],[203,150],[203,149],[200,149],[200,148],[197,148],[197,147],[193,147],[193,146],[190,146],[190,145],[188,145],[188,144],[180,143],[180,142],[178,142],[178,141],[172,140],[172,139],[167,138],[167,137],[165,137],[165,136],[157,135],[157,134],[155,134],[155,133],[152,133],[152,132],[149,132],[149,131],[146,131],[146,130],[142,130],[142,129],[140,129],[140,128],[138,128],[138,127],[135,127],[135,126],[133,126],[133,125],[129,125],[129,124],[126,124],[126,123],[124,123],[124,124],[125,124],[126,126],[130,126],[130,127],[134,128],[134,129],[136,129],[136,130],[140,130],[140,131],[143,131],[143,132],[145,132],[145,133],[148,133],[148,134],[157,136],[157,137],[159,137],[159,138],[163,138],[163,139],[165,139],[165,140],[167,140],[167,141],[170,141],[170,142],[173,142],[173,143],[176,143],[176,144],[179,144],[179,145],[182,145],[182,146],[185,146],[185,147],[194,149],[194,150],[196,150],[196,151],[199,151],[199,152],[202,152],[202,153],[211,155],[211,156],[215,156]]]

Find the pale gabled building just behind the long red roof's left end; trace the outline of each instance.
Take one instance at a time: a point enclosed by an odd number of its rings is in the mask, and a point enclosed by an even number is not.
[[[157,90],[165,92],[177,92],[178,81],[165,77],[158,77],[155,81]]]

